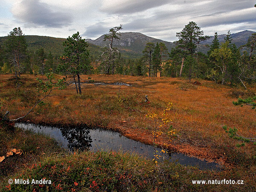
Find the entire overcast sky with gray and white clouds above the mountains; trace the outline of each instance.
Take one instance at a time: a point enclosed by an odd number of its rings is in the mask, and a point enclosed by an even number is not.
[[[20,26],[25,35],[96,39],[114,26],[165,41],[189,21],[205,35],[256,31],[256,0],[0,0],[0,36]]]

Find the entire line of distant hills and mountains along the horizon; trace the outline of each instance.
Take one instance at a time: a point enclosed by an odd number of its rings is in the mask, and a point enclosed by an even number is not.
[[[242,32],[233,33],[231,34],[231,37],[233,39],[232,43],[236,44],[237,47],[240,47],[241,45],[247,43],[248,38],[253,33],[256,32],[245,30]],[[225,37],[226,35],[218,35],[219,42],[224,42]],[[0,37],[0,45],[3,44],[6,38],[7,37]],[[52,55],[55,56],[63,54],[64,47],[62,43],[66,40],[65,38],[53,38],[38,35],[25,35],[25,38],[28,43],[28,50],[30,51],[35,51],[43,47],[46,53],[49,53],[50,51]],[[152,42],[154,44],[156,44],[157,42],[162,42],[166,45],[169,52],[171,51],[172,47],[175,47],[175,44],[173,42],[148,37],[147,35],[139,32],[123,32],[121,33],[119,38],[119,40],[113,41],[113,46],[117,47],[121,51],[122,56],[124,56],[125,58],[141,57],[143,55],[145,45],[148,42]],[[208,39],[207,41],[201,42],[201,44],[198,46],[198,51],[206,54],[209,50],[209,47],[207,47],[206,45],[211,45],[213,38],[214,36],[211,36],[210,39]],[[96,40],[85,40],[88,42],[90,54],[94,55],[94,58],[98,58],[99,55],[101,55],[101,47],[105,47],[109,44],[109,41],[103,41],[103,39],[104,35],[100,36]]]

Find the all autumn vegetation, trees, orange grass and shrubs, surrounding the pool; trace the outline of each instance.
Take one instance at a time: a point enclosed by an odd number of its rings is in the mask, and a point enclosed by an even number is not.
[[[105,35],[109,47],[96,61],[79,32],[64,41],[63,54],[55,59],[44,49],[29,56],[21,29],[9,33],[0,49],[6,52],[0,60],[3,191],[256,191],[256,35],[240,47],[247,53],[232,44],[230,32],[224,44],[215,33],[204,55],[197,46],[209,37],[189,22],[177,32],[170,53],[163,43],[148,43],[142,58],[123,63],[113,44],[121,29]],[[132,76],[121,75],[124,71]],[[214,161],[222,169],[161,162],[157,151],[153,163],[122,151],[65,151],[48,136],[15,128],[14,122],[101,127],[161,147],[162,153]],[[10,175],[53,184],[9,185]],[[191,183],[224,178],[244,180],[244,185]]]

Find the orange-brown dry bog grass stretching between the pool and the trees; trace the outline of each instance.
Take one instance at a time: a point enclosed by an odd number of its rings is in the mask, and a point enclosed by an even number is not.
[[[45,79],[44,76],[22,75],[19,80],[21,85],[16,88],[16,82],[9,80],[10,75],[0,76],[0,98],[8,98],[3,108],[10,111],[11,119],[26,113],[40,97],[35,86],[37,77]],[[180,139],[170,143],[163,134],[158,139],[159,144],[168,143],[170,149],[219,163],[233,163],[234,151],[239,157],[245,152],[250,156],[253,152],[250,145],[236,149],[236,141],[230,139],[222,129],[223,125],[227,125],[238,128],[245,137],[256,135],[255,112],[232,104],[236,100],[232,92],[241,91],[242,87],[231,88],[204,80],[199,80],[201,85],[194,85],[187,80],[165,77],[90,77],[94,81],[124,82],[132,86],[122,86],[119,94],[119,86],[116,85],[82,84],[83,94],[76,95],[75,87],[70,85],[65,90],[55,91],[24,121],[103,126],[135,140],[152,143],[151,124],[145,114],[159,114],[168,102],[172,102],[172,125]],[[87,80],[88,76],[81,76],[81,79]],[[250,92],[255,91],[255,87],[250,89]],[[148,95],[149,103],[144,102],[145,95]]]

